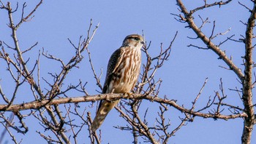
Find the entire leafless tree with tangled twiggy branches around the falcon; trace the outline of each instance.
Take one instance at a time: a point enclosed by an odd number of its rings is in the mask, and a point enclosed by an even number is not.
[[[184,105],[178,105],[176,100],[169,100],[167,96],[159,95],[161,90],[161,79],[156,79],[157,70],[162,68],[165,61],[170,57],[170,51],[175,42],[178,32],[173,33],[173,40],[170,41],[170,45],[167,48],[159,47],[159,54],[152,55],[148,49],[151,47],[151,42],[147,43],[147,47],[143,49],[146,55],[146,63],[143,63],[143,70],[140,73],[140,80],[137,86],[133,90],[133,95],[124,94],[100,94],[90,95],[86,91],[85,81],[78,81],[78,84],[69,84],[64,87],[67,77],[70,76],[69,71],[78,68],[79,63],[87,57],[89,64],[91,65],[91,72],[94,74],[95,84],[99,89],[102,89],[101,85],[101,73],[98,75],[94,69],[94,64],[91,59],[89,51],[89,44],[94,38],[94,34],[97,31],[98,25],[92,23],[89,24],[86,36],[80,36],[78,44],[74,44],[70,39],[70,47],[73,55],[69,57],[69,60],[61,60],[60,58],[48,54],[45,49],[38,51],[37,58],[33,60],[30,56],[33,55],[31,50],[36,49],[37,43],[31,45],[27,49],[20,47],[20,41],[18,40],[18,28],[20,25],[25,24],[31,20],[37,9],[42,7],[42,0],[34,7],[34,9],[25,15],[26,3],[20,5],[10,4],[10,2],[0,1],[1,12],[7,12],[9,23],[8,27],[11,30],[12,44],[0,39],[0,61],[4,63],[7,68],[6,73],[9,77],[1,79],[8,79],[8,87],[12,87],[12,91],[2,89],[0,85],[0,124],[4,127],[1,134],[0,143],[4,136],[12,139],[13,143],[21,143],[22,140],[18,140],[15,134],[21,133],[26,135],[29,127],[26,118],[33,117],[41,125],[41,128],[37,129],[38,135],[40,135],[48,143],[83,143],[79,141],[78,137],[84,137],[82,134],[86,132],[89,136],[91,143],[101,143],[101,131],[99,133],[91,132],[91,108],[95,107],[95,101],[98,100],[121,100],[121,104],[116,106],[116,111],[120,113],[122,119],[126,121],[126,124],[116,126],[116,129],[126,130],[132,132],[133,143],[148,142],[148,143],[168,143],[170,137],[176,134],[188,122],[194,121],[195,117],[207,118],[207,119],[244,119],[244,130],[241,136],[241,143],[250,143],[252,137],[253,126],[256,124],[254,108],[256,104],[252,101],[252,89],[255,87],[256,81],[253,78],[253,68],[255,63],[252,60],[252,52],[255,45],[253,44],[253,28],[255,27],[256,19],[256,4],[252,1],[253,8],[238,3],[241,7],[249,10],[250,16],[246,22],[242,22],[246,25],[244,34],[241,34],[240,39],[233,39],[232,36],[228,36],[219,44],[214,44],[214,39],[217,36],[225,35],[225,33],[215,32],[215,21],[213,28],[211,29],[211,35],[207,36],[203,27],[208,24],[208,18],[203,19],[200,15],[195,16],[196,12],[207,10],[209,7],[225,7],[232,0],[227,1],[215,1],[208,3],[203,0],[204,4],[195,9],[187,9],[186,4],[181,0],[177,0],[179,13],[173,13],[174,17],[179,23],[185,23],[189,31],[194,31],[195,38],[189,37],[193,41],[203,41],[204,45],[197,46],[195,44],[189,44],[189,47],[195,47],[198,49],[207,49],[218,55],[220,60],[226,63],[226,67],[223,67],[230,71],[230,73],[236,73],[237,80],[240,82],[241,89],[230,89],[236,91],[238,96],[241,97],[241,103],[243,108],[230,103],[224,103],[227,98],[225,95],[225,88],[222,84],[222,79],[219,82],[219,89],[215,92],[213,98],[208,99],[208,103],[203,108],[196,108],[197,100],[200,98],[204,87],[208,79],[204,81],[201,89],[199,89],[198,95],[192,100],[191,107],[184,107]],[[19,7],[21,6],[21,10]],[[12,15],[20,12],[20,20],[13,20]],[[200,25],[196,25],[195,20],[201,21]],[[17,23],[15,23],[17,22]],[[208,30],[207,30],[208,31]],[[225,54],[222,44],[230,41],[235,41],[244,44],[245,54],[242,55],[242,66],[239,68],[237,64],[233,63],[231,57]],[[28,57],[29,55],[29,57]],[[59,70],[49,71],[48,75],[51,79],[45,79],[41,76],[40,62],[41,60],[50,60],[51,63],[57,63],[60,65]],[[33,62],[34,61],[34,62]],[[242,71],[244,70],[244,71]],[[1,80],[1,81],[2,81]],[[26,89],[27,95],[21,95],[20,89]],[[74,95],[78,94],[78,95]],[[26,101],[14,104],[14,100],[17,97],[27,97]],[[148,109],[139,112],[140,105],[142,103],[153,103],[159,110],[155,113],[155,123],[151,124],[148,121]],[[180,123],[176,127],[172,126],[170,119],[166,116],[167,111],[170,111],[170,107],[175,108],[176,111],[180,111],[183,116],[180,117]],[[229,113],[223,113],[223,109],[227,108]],[[207,121],[206,119],[206,121]],[[227,121],[228,122],[228,121]],[[71,133],[70,133],[71,132]]]

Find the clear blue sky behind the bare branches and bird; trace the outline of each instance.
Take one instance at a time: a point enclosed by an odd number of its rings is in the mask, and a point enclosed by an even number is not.
[[[6,3],[6,1],[3,2]],[[248,7],[252,7],[249,1],[243,2]],[[23,1],[19,1],[19,3],[21,7]],[[26,12],[29,12],[37,4],[37,1],[28,1],[27,4]],[[193,9],[201,6],[203,0],[186,0],[184,4],[188,9]],[[15,7],[15,1],[12,1],[12,7]],[[20,10],[18,9],[18,11]],[[67,38],[77,44],[79,36],[86,36],[86,31],[92,19],[93,25],[99,23],[99,28],[93,41],[91,41],[89,49],[97,73],[100,73],[101,68],[103,70],[101,79],[103,84],[108,58],[115,49],[121,46],[125,36],[131,33],[142,34],[143,31],[146,41],[151,41],[151,55],[157,55],[160,44],[162,43],[163,47],[168,47],[176,31],[178,31],[169,60],[156,73],[156,78],[163,80],[159,95],[167,95],[169,99],[178,100],[178,104],[184,104],[185,107],[190,108],[192,106],[191,102],[196,97],[206,77],[208,77],[208,83],[200,100],[197,102],[197,109],[200,109],[206,105],[208,97],[213,97],[215,95],[214,91],[219,90],[219,79],[222,78],[225,93],[228,95],[225,102],[242,106],[236,92],[228,90],[228,88],[241,87],[236,81],[235,73],[219,68],[219,65],[226,65],[222,60],[217,59],[218,57],[214,52],[187,47],[189,44],[202,47],[205,47],[205,45],[200,40],[188,39],[187,36],[195,37],[195,33],[191,29],[185,28],[187,26],[186,23],[178,23],[170,13],[179,14],[176,1],[44,1],[35,12],[35,17],[21,25],[18,30],[18,39],[20,47],[23,49],[31,47],[37,41],[39,42],[37,48],[31,51],[31,55],[25,55],[25,57],[31,57],[31,61],[37,59],[37,52],[43,47],[51,55],[55,55],[67,62],[69,60],[68,57],[74,52]],[[199,25],[201,21],[198,15],[203,18],[209,17],[209,21],[211,21],[202,29],[208,36],[211,34],[214,20],[216,20],[215,33],[222,33],[230,28],[229,33],[225,36],[219,36],[214,39],[214,42],[219,44],[227,36],[235,34],[233,38],[239,39],[240,34],[244,35],[246,27],[239,20],[246,21],[249,12],[244,7],[241,7],[238,1],[232,1],[222,8],[214,7],[195,13],[195,22]],[[6,25],[8,23],[7,12],[0,9],[0,17],[0,40],[11,43],[11,31]],[[14,18],[17,23],[20,20],[20,13],[17,12]],[[221,49],[225,50],[228,56],[232,55],[234,63],[239,68],[242,68],[243,44],[229,41],[223,44]],[[86,53],[84,55],[86,58],[79,64],[80,68],[69,73],[66,84],[77,83],[79,79],[84,82],[88,81],[86,88],[91,95],[95,95],[97,94],[96,89],[99,90],[99,88],[95,84]],[[145,62],[145,55],[143,55],[143,58],[143,62]],[[1,63],[0,67],[3,67]],[[48,71],[58,71],[59,68],[58,63],[51,63],[49,60],[42,58],[41,75],[46,79],[50,79],[47,74]],[[0,73],[5,74],[5,70],[0,70]],[[3,89],[4,87],[7,89],[10,86],[8,86],[8,81],[4,79],[4,76],[0,77],[0,84]],[[9,90],[12,92],[12,89],[7,89],[6,91],[9,92]],[[255,90],[253,92],[255,93]],[[20,91],[19,94],[27,94],[26,89]],[[76,94],[71,96],[76,96]],[[33,100],[30,95],[26,95],[25,98],[26,100]],[[24,100],[24,97],[17,97],[15,103],[26,100]],[[149,107],[151,116],[154,116],[157,111],[155,108],[157,107],[151,105],[155,105],[155,103],[145,102],[142,109],[145,111]],[[95,109],[89,111],[94,114]],[[227,109],[225,109],[225,113],[228,113]],[[179,122],[178,116],[182,116],[182,114],[174,108],[170,108],[168,114],[170,114],[168,117],[174,128]],[[26,120],[27,123],[32,121],[33,119]],[[154,124],[154,119],[150,123]],[[124,120],[113,110],[104,124],[102,124],[102,143],[131,143],[132,135],[129,132],[122,132],[113,128],[113,125],[116,124],[124,124]],[[34,140],[38,140],[37,143],[45,143],[35,132],[35,130],[43,131],[38,123],[29,124],[29,128],[28,135],[17,134],[18,139],[23,138],[23,143],[31,143]],[[182,127],[176,133],[176,136],[170,138],[169,142],[241,143],[242,128],[242,119],[214,121],[213,119],[196,118],[194,122]],[[253,135],[255,136],[256,132]],[[256,143],[256,137],[254,136],[252,136],[252,143]],[[89,140],[89,137],[86,133],[84,137],[80,136],[80,142],[85,140],[85,143],[88,143],[87,139]]]

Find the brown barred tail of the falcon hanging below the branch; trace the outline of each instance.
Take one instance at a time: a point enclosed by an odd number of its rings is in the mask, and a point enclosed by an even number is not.
[[[97,115],[94,118],[94,121],[91,123],[91,130],[92,132],[95,132],[103,123],[105,120],[105,117],[108,115],[110,110],[115,107],[117,103],[119,103],[120,100],[115,101],[107,101],[103,100],[102,104],[99,107],[99,110],[97,112]]]

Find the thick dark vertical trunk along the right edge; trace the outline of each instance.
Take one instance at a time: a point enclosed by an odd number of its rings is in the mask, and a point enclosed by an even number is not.
[[[244,55],[244,81],[243,81],[243,102],[244,112],[247,113],[246,119],[244,119],[244,131],[242,135],[242,143],[250,143],[252,137],[252,129],[255,122],[255,112],[252,103],[252,39],[253,28],[255,26],[256,19],[256,4],[252,9],[251,15],[248,19],[246,27],[246,39],[245,39],[245,55]]]

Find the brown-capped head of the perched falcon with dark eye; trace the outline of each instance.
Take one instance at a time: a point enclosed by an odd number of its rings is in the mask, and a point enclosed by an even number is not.
[[[145,42],[142,36],[138,34],[131,34],[127,36],[124,41],[122,47],[145,47]]]

